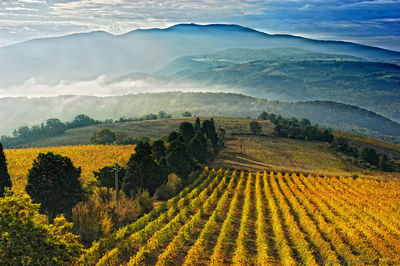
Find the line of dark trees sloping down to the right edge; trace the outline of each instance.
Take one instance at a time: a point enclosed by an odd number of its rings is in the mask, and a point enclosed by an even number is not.
[[[400,165],[386,154],[378,153],[374,148],[364,147],[357,149],[349,144],[345,138],[334,138],[331,148],[351,158],[351,162],[362,168],[374,168],[386,172],[399,171]]]

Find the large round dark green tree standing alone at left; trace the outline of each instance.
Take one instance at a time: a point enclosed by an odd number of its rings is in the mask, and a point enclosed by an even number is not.
[[[28,173],[26,192],[50,221],[57,214],[71,216],[71,210],[83,198],[79,182],[81,168],[76,168],[70,158],[51,152],[39,154]]]

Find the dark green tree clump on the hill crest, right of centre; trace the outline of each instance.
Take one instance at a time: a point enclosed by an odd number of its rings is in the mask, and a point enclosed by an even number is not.
[[[286,119],[275,114],[262,112],[258,119],[270,120],[274,125],[276,137],[294,138],[304,140],[321,140],[331,143],[333,134],[330,129],[320,129],[318,125],[313,126],[308,119],[298,120],[297,118]]]

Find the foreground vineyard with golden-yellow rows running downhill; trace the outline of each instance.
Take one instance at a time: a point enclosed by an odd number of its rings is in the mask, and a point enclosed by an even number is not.
[[[400,262],[400,184],[206,170],[93,244],[85,265]]]

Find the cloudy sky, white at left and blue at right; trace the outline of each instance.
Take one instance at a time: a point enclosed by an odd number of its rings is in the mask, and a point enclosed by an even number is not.
[[[263,32],[400,51],[400,0],[0,0],[0,46],[40,37],[178,23],[239,24]]]

